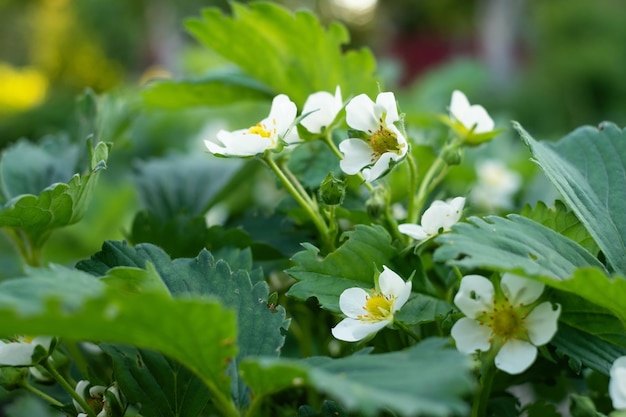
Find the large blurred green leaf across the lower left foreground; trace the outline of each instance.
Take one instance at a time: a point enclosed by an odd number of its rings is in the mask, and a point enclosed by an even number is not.
[[[0,283],[0,314],[2,336],[48,334],[154,349],[198,375],[217,406],[233,412],[225,371],[236,352],[235,314],[215,299],[118,291],[55,267]]]

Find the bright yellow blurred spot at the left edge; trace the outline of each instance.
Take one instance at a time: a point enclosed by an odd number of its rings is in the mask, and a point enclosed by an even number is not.
[[[14,68],[0,62],[0,113],[38,106],[46,98],[48,79],[35,68]]]

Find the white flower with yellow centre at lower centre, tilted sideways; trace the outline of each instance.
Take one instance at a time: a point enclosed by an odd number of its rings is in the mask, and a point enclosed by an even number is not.
[[[411,282],[404,282],[386,266],[378,277],[379,291],[348,288],[339,297],[339,308],[347,317],[333,327],[339,340],[357,342],[393,323],[393,316],[409,299]]]

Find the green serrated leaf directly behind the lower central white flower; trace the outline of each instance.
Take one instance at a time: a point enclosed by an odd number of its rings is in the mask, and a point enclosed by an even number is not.
[[[287,292],[301,300],[316,297],[322,308],[339,312],[339,295],[351,287],[373,288],[374,275],[390,266],[396,250],[391,236],[378,225],[357,225],[346,232],[347,240],[324,259],[319,249],[303,243],[304,251],[296,253],[296,264],[287,272],[298,280]]]

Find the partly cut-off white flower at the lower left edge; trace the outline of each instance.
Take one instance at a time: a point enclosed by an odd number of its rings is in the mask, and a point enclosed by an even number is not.
[[[0,340],[0,366],[32,366],[50,354],[52,337],[20,336],[16,341]]]

